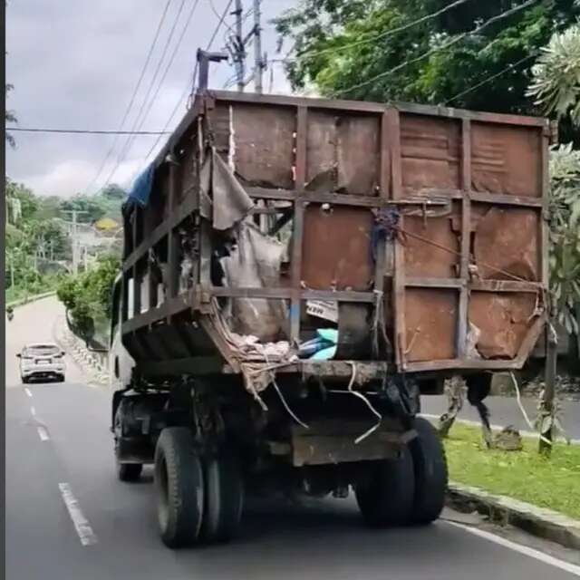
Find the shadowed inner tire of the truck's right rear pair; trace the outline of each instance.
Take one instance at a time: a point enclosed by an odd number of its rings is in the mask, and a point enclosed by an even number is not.
[[[354,488],[364,521],[371,527],[401,526],[411,521],[414,498],[411,453],[374,462],[372,471]]]

